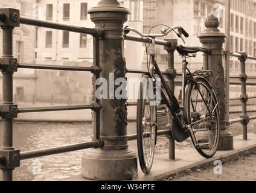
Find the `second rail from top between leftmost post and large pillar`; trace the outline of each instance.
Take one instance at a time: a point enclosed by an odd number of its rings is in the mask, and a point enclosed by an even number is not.
[[[56,71],[83,71],[83,72],[94,72],[95,69],[92,67],[83,66],[60,66],[60,65],[32,65],[32,64],[20,64],[19,68],[26,69],[46,69]]]

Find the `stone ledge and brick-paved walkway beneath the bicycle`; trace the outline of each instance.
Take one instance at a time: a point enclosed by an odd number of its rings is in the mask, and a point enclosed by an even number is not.
[[[144,175],[138,169],[138,177],[134,176],[133,180],[256,180],[256,156],[251,156],[256,154],[256,134],[249,133],[248,138],[248,141],[243,141],[243,136],[235,136],[234,150],[217,151],[216,156],[211,159],[203,158],[194,148],[176,150],[176,160],[169,160],[166,153],[155,154],[150,174]],[[216,160],[223,163],[222,176],[215,176],[213,172]],[[61,181],[87,181],[87,179],[79,175]]]

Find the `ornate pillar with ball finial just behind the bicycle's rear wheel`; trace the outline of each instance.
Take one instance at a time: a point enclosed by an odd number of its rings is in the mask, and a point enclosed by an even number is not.
[[[205,21],[206,29],[199,34],[200,42],[204,48],[211,49],[211,54],[208,56],[208,65],[206,54],[203,56],[203,68],[208,68],[213,71],[212,84],[217,95],[217,100],[220,106],[220,145],[219,150],[232,150],[233,149],[233,136],[228,128],[228,120],[226,120],[226,85],[225,85],[225,74],[222,63],[222,48],[225,42],[226,35],[220,33],[219,19],[210,14]]]

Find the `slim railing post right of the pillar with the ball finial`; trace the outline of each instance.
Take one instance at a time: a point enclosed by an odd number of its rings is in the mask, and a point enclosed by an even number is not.
[[[248,140],[247,136],[247,125],[249,123],[249,116],[247,115],[247,102],[248,102],[248,95],[246,93],[246,81],[248,79],[246,75],[246,68],[245,68],[245,62],[247,60],[248,55],[245,52],[240,52],[242,55],[239,57],[239,60],[241,62],[241,74],[240,74],[240,81],[241,81],[241,88],[242,88],[242,115],[240,118],[243,118],[243,121],[241,122],[243,125],[243,140]]]

